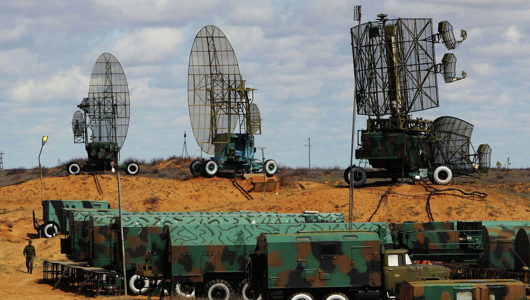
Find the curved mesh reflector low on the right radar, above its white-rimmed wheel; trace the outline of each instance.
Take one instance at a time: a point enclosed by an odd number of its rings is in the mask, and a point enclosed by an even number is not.
[[[449,166],[455,176],[471,176],[479,171],[469,153],[473,125],[455,117],[439,117],[432,122],[432,128],[435,165]]]

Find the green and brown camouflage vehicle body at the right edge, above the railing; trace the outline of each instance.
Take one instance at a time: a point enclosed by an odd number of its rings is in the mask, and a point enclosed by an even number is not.
[[[503,222],[503,225],[488,225],[482,222],[484,255],[477,259],[477,266],[493,269],[514,269],[514,242],[517,230],[529,229],[529,222]]]

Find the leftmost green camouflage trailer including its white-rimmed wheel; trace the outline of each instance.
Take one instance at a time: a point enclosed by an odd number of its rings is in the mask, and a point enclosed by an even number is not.
[[[79,209],[109,209],[110,203],[107,201],[89,200],[44,200],[42,201],[42,224],[35,218],[33,210],[33,228],[37,230],[39,237],[54,237],[61,230],[61,220],[63,220],[63,208]]]

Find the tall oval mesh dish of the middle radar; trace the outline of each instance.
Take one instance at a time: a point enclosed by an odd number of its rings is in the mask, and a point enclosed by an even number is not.
[[[219,28],[202,28],[191,47],[188,107],[193,135],[202,151],[215,154],[230,140],[237,125],[241,74],[234,49]]]

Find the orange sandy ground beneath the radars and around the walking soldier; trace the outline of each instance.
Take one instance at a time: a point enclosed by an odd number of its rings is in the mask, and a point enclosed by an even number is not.
[[[238,179],[240,182],[241,179]],[[258,179],[255,179],[258,181]],[[245,190],[250,190],[250,179],[241,181]],[[93,176],[77,175],[43,179],[44,198],[60,200],[106,200],[113,208],[118,207],[117,181],[113,175],[100,175],[103,194],[98,192]],[[188,180],[152,179],[138,176],[121,177],[123,208],[129,211],[231,211],[262,210],[278,212],[343,212],[348,215],[349,191],[345,184],[337,182],[301,182],[296,185],[277,188],[276,193],[263,196],[251,192],[248,199],[229,179],[192,178]],[[357,190],[354,194],[354,221],[367,221],[377,207],[381,194],[390,187],[389,182],[372,184]],[[436,186],[437,188],[443,188]],[[466,192],[476,186],[451,185]],[[481,192],[488,197],[483,200],[463,199],[458,192],[434,195],[431,211],[436,221],[445,220],[528,220],[530,199],[507,193],[508,190],[530,191],[530,184],[515,186],[488,185]],[[398,185],[392,190],[398,194],[388,195],[387,204],[381,205],[373,221],[428,221],[425,209],[427,196],[421,185]],[[144,204],[145,203],[145,204]],[[0,298],[16,299],[72,299],[75,292],[51,290],[42,283],[42,261],[60,260],[59,237],[37,238],[32,224],[32,210],[37,218],[42,217],[39,181],[30,181],[0,190],[0,281],[10,282],[10,288],[0,289]],[[7,227],[7,220],[13,227]],[[37,259],[33,274],[25,273],[25,259],[22,250],[28,239],[33,239]],[[77,298],[86,298],[78,296]],[[144,297],[143,297],[144,298]]]

